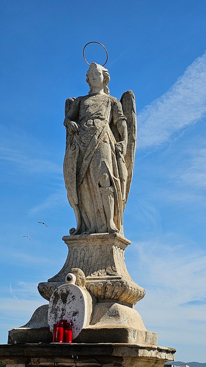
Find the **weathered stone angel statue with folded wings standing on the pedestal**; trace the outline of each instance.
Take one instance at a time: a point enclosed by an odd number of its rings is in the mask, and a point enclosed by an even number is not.
[[[109,95],[108,70],[91,63],[88,95],[65,102],[64,181],[77,228],[70,235],[123,234],[136,149],[136,108],[132,91],[120,101]]]

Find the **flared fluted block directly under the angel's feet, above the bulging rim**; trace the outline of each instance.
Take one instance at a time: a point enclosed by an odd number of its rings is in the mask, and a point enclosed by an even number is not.
[[[107,276],[132,280],[124,263],[124,250],[131,241],[125,237],[98,233],[64,236],[63,241],[69,249],[67,260],[59,273],[48,279],[49,282],[64,281],[72,268],[82,269],[86,279]]]

